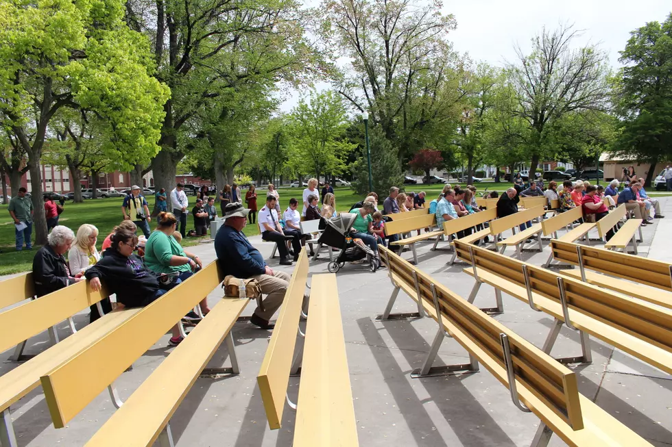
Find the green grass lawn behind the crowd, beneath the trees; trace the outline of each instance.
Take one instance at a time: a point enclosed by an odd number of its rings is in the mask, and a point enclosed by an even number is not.
[[[461,184],[461,186],[464,186],[464,184]],[[483,183],[477,184],[477,189],[479,192],[482,192],[487,188],[488,191],[496,190],[501,193],[511,186],[512,183],[484,181]],[[405,190],[407,191],[427,192],[427,201],[435,199],[443,189],[442,184],[404,185],[403,187],[405,187]],[[280,209],[284,211],[287,208],[287,205],[289,205],[289,199],[292,197],[301,201],[302,192],[303,188],[278,188],[278,193],[280,194]],[[335,188],[335,193],[336,207],[339,212],[347,212],[352,204],[363,199],[362,196],[355,194],[355,191],[351,188]],[[263,206],[264,194],[265,190],[260,188],[258,201],[259,207]],[[669,192],[649,194],[653,196],[672,195]],[[154,197],[147,197],[146,199],[149,203],[149,209],[152,209],[152,207],[154,207]],[[384,199],[384,196],[379,198],[381,206]],[[100,248],[108,233],[112,231],[115,225],[118,225],[119,222],[121,222],[122,201],[123,199],[121,197],[117,197],[110,199],[85,200],[84,203],[67,202],[65,204],[65,210],[63,214],[61,214],[60,224],[70,227],[75,233],[77,233],[77,228],[84,223],[95,225],[99,230],[98,248]],[[189,203],[191,209],[195,203],[194,196],[189,196]],[[152,227],[152,229],[154,228],[154,222],[150,224],[150,227]],[[189,216],[187,228],[193,228],[193,218],[191,215]],[[256,235],[259,234],[259,227],[257,225],[248,225],[243,231],[248,236]],[[185,238],[185,240],[182,241],[182,244],[184,246],[192,246],[198,244],[202,240],[208,239],[209,236],[203,238]],[[38,246],[34,246],[32,251],[17,252],[15,250],[14,225],[10,218],[10,214],[7,211],[7,205],[0,205],[0,249],[2,251],[2,253],[0,253],[0,275],[30,270],[32,268],[32,259],[37,248]]]

